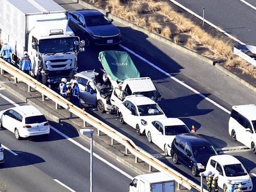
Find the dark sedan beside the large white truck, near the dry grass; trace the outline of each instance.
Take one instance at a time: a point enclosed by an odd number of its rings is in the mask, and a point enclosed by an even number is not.
[[[110,20],[97,10],[70,11],[68,19],[74,33],[88,39],[90,44],[113,45],[122,41],[119,29],[112,24],[113,19]]]

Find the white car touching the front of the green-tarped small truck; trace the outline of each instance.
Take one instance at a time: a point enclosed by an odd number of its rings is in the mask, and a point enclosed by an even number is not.
[[[126,96],[118,109],[119,121],[136,129],[138,135],[145,132],[147,122],[167,118],[158,104],[142,95]]]

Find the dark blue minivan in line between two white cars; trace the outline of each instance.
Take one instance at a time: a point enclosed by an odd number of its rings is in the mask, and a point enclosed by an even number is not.
[[[211,156],[218,155],[209,141],[192,133],[177,135],[170,153],[175,164],[179,162],[187,166],[194,176],[205,170]]]

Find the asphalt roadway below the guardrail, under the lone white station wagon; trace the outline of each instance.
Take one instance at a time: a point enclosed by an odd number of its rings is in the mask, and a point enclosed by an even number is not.
[[[26,104],[6,90],[0,90],[0,93],[19,105]],[[0,111],[13,107],[1,94]],[[16,140],[8,130],[0,130],[1,143],[12,151],[4,150],[5,163],[0,165],[0,181],[7,186],[8,191],[90,191],[90,153],[77,146],[76,142],[89,150],[90,144],[79,138],[70,124],[50,121],[50,125],[54,128],[48,137],[36,136],[23,140]],[[72,142],[54,130],[67,135]],[[94,153],[127,174],[123,175],[94,157],[94,190],[128,191],[130,178],[136,174],[96,147]]]

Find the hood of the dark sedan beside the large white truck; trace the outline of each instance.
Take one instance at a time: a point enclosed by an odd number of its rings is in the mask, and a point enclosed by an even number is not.
[[[92,35],[98,35],[103,37],[115,36],[120,33],[119,29],[112,24],[88,27],[88,32]]]

